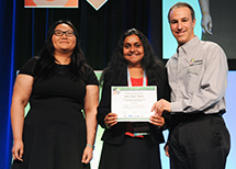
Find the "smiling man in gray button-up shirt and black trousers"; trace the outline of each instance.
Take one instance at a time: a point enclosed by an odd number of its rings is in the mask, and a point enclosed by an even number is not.
[[[167,156],[171,169],[224,169],[229,151],[225,113],[227,59],[215,43],[194,35],[195,16],[184,2],[172,5],[168,20],[178,42],[168,60],[171,102],[160,100],[156,114],[170,112],[171,125]]]

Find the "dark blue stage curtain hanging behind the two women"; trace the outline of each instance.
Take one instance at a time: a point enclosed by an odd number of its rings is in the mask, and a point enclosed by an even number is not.
[[[109,0],[95,11],[79,0],[79,9],[25,9],[23,0],[0,0],[0,169],[11,166],[10,103],[15,72],[40,52],[48,26],[59,19],[70,20],[87,63],[100,70],[108,65],[120,35],[131,27],[143,32],[157,57],[162,56],[161,5],[161,0]],[[236,59],[228,64],[236,69]]]

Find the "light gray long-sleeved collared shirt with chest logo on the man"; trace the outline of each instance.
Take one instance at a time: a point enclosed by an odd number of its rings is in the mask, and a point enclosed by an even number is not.
[[[227,58],[215,43],[198,36],[180,46],[167,65],[171,113],[225,111]]]

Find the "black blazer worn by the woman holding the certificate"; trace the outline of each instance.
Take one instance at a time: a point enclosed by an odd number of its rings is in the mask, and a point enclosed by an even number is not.
[[[104,117],[106,114],[111,112],[111,86],[127,86],[127,79],[124,78],[122,82],[113,82],[112,84],[108,84],[109,79],[104,77],[103,81],[103,88],[102,88],[102,98],[100,101],[100,104],[98,106],[98,114],[97,114],[97,120],[98,123],[101,125],[101,127],[105,128],[102,140],[108,143],[108,144],[114,144],[114,145],[120,145],[122,144],[125,132],[126,132],[126,122],[119,122],[111,128],[106,128],[104,124]],[[148,86],[157,86],[155,81],[151,79],[148,79]],[[159,99],[167,99],[168,98],[168,83],[167,79],[159,83],[157,86],[157,98]],[[167,95],[167,97],[166,97]],[[150,139],[153,144],[160,144],[164,143],[164,135],[162,135],[162,128],[158,128],[157,126],[148,123],[149,128],[150,128]]]

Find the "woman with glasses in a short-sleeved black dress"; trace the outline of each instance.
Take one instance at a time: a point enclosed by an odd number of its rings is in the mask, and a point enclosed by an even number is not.
[[[75,26],[57,21],[43,50],[20,69],[15,80],[12,168],[90,168],[98,100],[98,80],[85,63]]]

